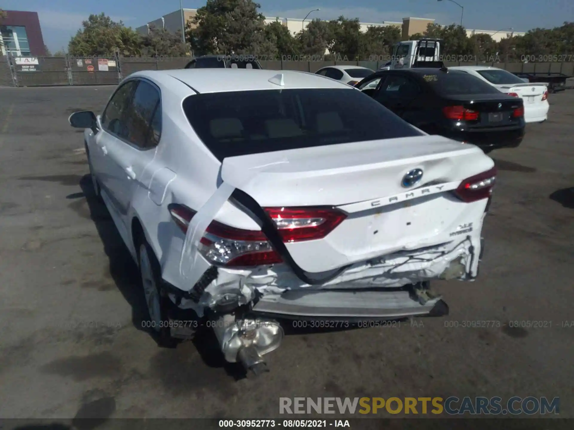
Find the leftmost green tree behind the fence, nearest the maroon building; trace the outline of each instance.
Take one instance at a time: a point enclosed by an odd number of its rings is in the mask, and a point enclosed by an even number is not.
[[[82,22],[82,29],[72,37],[68,52],[79,56],[112,56],[115,52],[121,55],[139,55],[141,53],[141,36],[122,21],[114,22],[103,12],[91,14]]]

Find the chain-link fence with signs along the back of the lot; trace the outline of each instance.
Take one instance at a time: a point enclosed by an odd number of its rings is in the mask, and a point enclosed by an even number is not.
[[[0,57],[0,86],[40,87],[52,85],[117,85],[131,73],[145,70],[182,69],[190,57]],[[373,70],[386,61],[260,61],[264,69],[315,73],[331,65],[358,65]],[[456,65],[488,65],[512,73],[562,73],[574,75],[574,62],[445,62]]]

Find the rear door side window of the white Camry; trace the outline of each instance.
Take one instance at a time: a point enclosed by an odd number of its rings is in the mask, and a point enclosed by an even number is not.
[[[126,112],[127,138],[141,149],[157,146],[161,135],[160,92],[148,81],[141,80]]]

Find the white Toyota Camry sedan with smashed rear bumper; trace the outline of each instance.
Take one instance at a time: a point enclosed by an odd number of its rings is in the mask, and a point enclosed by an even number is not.
[[[349,85],[294,71],[137,72],[101,115],[69,122],[86,128],[95,193],[162,342],[210,326],[227,361],[258,373],[281,321],[440,316],[448,306],[429,281],[478,275],[492,159]]]

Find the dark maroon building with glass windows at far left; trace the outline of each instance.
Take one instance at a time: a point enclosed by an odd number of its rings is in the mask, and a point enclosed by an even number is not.
[[[37,12],[5,10],[0,22],[2,55],[37,57],[46,54],[40,19]]]

